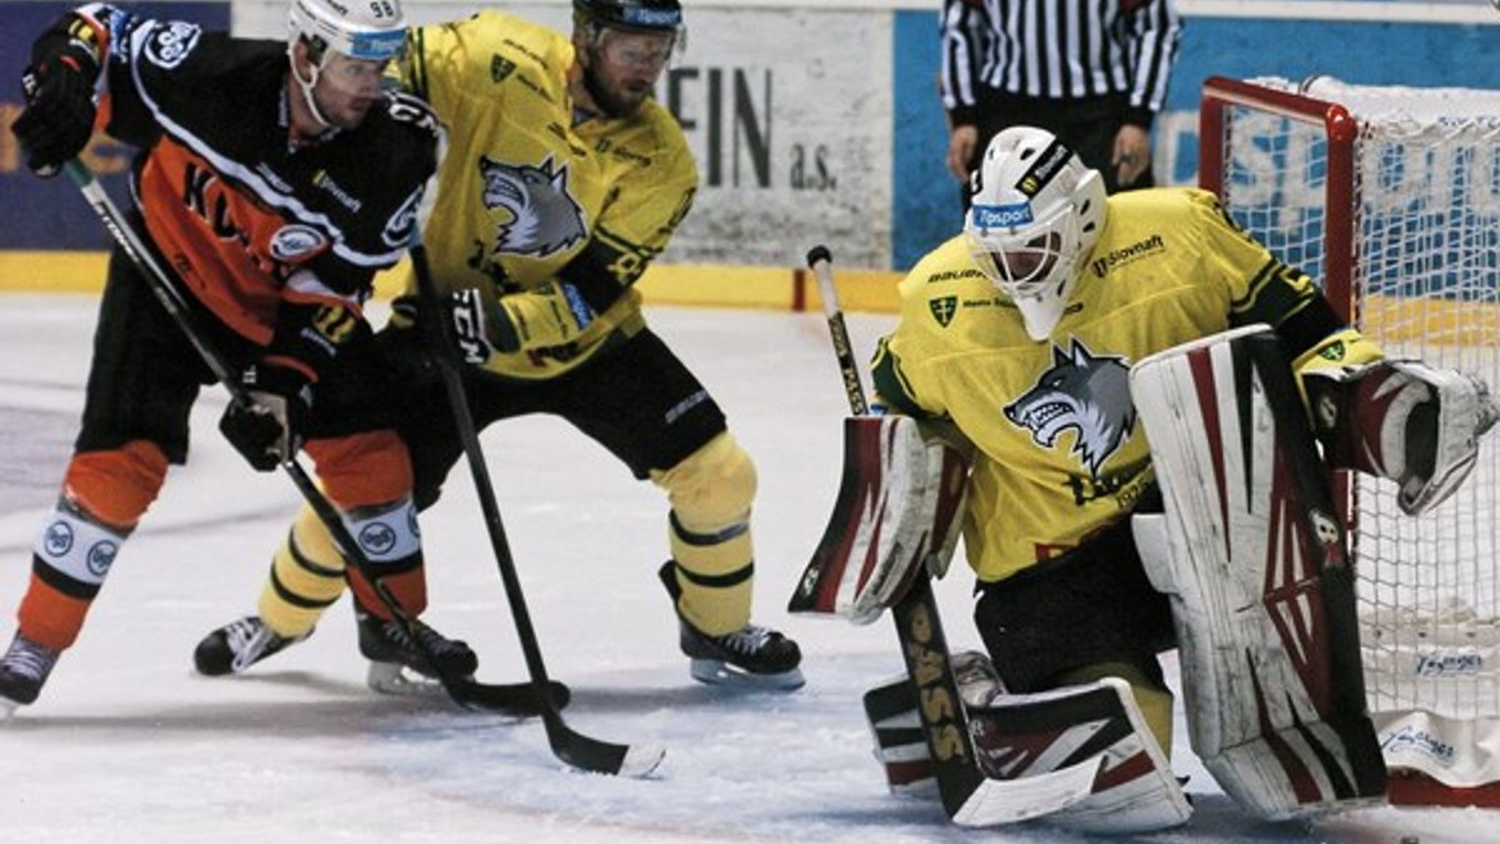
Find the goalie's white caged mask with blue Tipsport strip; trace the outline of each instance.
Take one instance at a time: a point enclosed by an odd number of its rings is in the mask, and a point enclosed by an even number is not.
[[[994,135],[972,179],[969,251],[1020,309],[1028,336],[1047,339],[1104,230],[1104,179],[1056,135],[1030,126]]]

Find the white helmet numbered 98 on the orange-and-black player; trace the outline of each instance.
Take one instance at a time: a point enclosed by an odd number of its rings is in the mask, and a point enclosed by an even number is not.
[[[291,44],[306,42],[320,66],[328,51],[387,62],[406,44],[406,15],[399,0],[291,0],[286,23]]]

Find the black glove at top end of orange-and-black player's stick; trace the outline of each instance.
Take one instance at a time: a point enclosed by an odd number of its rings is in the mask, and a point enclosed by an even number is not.
[[[26,165],[38,176],[56,176],[63,162],[88,144],[98,77],[99,62],[78,41],[69,41],[21,77],[26,111],[10,131],[26,149]]]

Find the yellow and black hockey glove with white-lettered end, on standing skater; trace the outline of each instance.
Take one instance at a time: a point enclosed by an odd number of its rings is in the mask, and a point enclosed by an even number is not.
[[[459,290],[448,311],[466,363],[483,363],[496,351],[566,345],[594,321],[592,308],[566,281],[506,296],[489,288]]]

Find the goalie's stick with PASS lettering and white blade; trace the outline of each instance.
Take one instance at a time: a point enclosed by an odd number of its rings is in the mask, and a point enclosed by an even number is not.
[[[819,297],[834,353],[843,372],[844,396],[855,416],[868,413],[864,384],[855,366],[849,332],[832,279],[832,252],[813,246],[807,266],[818,276]],[[933,775],[944,811],[960,826],[1016,823],[1076,803],[1092,793],[1098,766],[1080,764],[1040,776],[996,779],[986,776],[974,752],[969,716],[958,697],[958,682],[938,614],[932,577],[926,565],[910,589],[891,607],[896,637],[906,674],[916,692],[916,713],[932,757]]]

